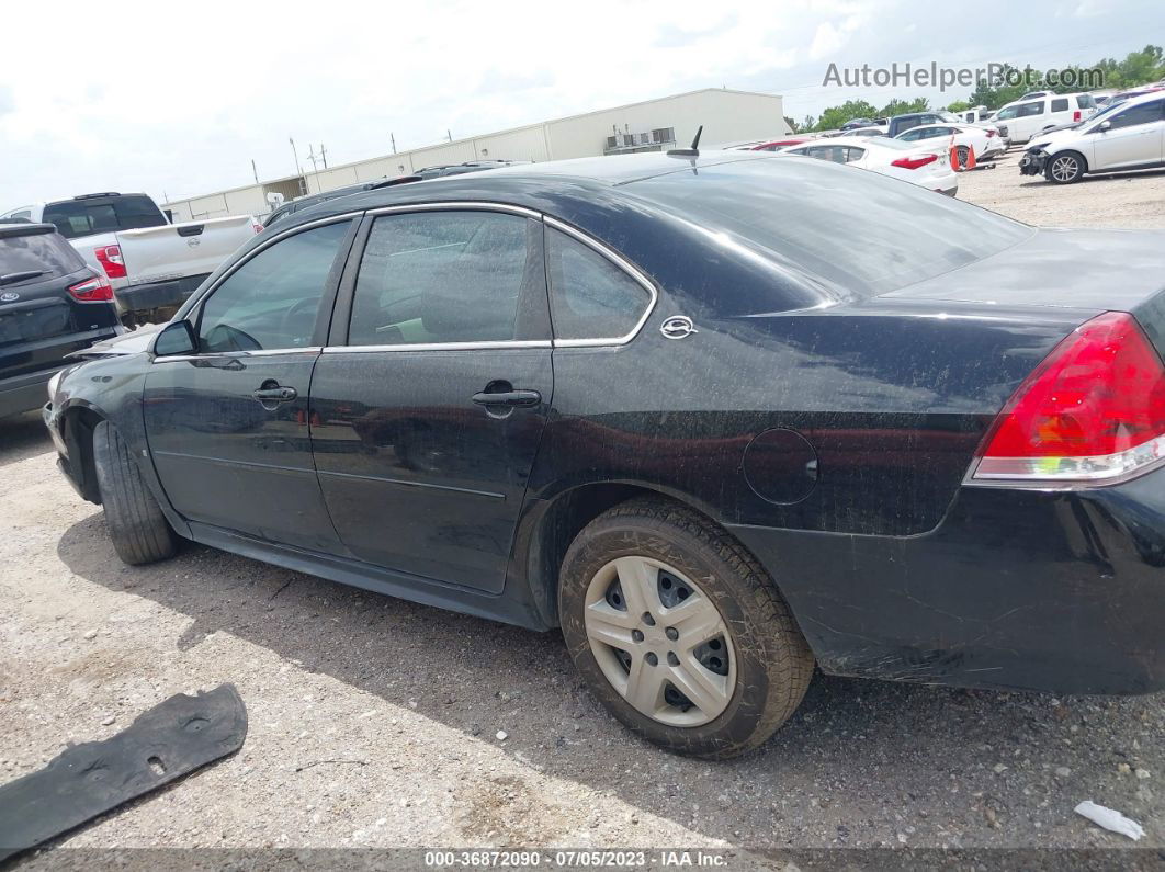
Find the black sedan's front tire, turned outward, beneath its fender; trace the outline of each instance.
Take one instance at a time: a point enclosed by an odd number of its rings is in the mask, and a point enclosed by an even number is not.
[[[172,556],[177,545],[174,531],[142,481],[129,448],[108,421],[93,428],[93,465],[105,524],[118,556],[132,566]]]

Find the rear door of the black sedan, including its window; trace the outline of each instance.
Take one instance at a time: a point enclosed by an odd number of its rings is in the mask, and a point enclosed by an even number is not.
[[[353,556],[496,593],[553,391],[542,222],[504,207],[366,219],[311,388]]]

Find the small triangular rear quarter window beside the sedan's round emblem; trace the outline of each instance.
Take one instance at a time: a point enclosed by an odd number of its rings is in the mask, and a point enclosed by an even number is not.
[[[557,339],[621,339],[651,305],[651,292],[622,268],[552,227],[546,228],[546,272]]]

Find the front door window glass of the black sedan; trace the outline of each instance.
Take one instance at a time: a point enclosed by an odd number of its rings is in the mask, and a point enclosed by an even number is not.
[[[315,227],[264,248],[203,304],[206,353],[302,348],[311,343],[327,277],[351,221]]]

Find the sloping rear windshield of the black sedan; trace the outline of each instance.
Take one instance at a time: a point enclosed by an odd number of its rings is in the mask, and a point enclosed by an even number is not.
[[[909,182],[779,154],[701,165],[698,175],[669,173],[628,189],[732,247],[760,249],[862,296],[959,269],[1033,233]]]

